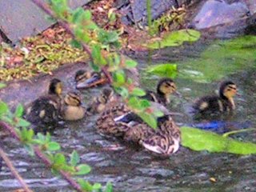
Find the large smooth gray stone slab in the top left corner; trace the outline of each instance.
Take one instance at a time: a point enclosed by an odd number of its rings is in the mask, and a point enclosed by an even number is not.
[[[43,0],[46,2],[46,0]],[[85,5],[91,0],[69,0],[72,8]],[[53,22],[46,20],[46,14],[30,0],[0,0],[0,30],[17,42],[20,38],[38,34]]]

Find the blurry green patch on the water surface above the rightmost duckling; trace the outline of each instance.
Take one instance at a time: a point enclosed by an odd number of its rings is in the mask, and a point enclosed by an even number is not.
[[[255,68],[256,37],[243,36],[215,41],[197,58],[180,65],[180,78],[195,82],[213,82],[248,68]]]

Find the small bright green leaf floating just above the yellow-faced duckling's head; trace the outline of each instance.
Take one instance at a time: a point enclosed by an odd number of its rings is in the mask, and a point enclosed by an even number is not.
[[[146,72],[150,74],[157,74],[161,77],[175,78],[177,75],[177,65],[166,63],[159,64],[157,66],[149,66]]]

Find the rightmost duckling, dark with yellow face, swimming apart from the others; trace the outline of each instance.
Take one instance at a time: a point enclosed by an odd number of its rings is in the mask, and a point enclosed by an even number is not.
[[[193,105],[194,114],[230,112],[235,109],[234,95],[237,94],[234,82],[222,82],[218,94],[199,98]]]

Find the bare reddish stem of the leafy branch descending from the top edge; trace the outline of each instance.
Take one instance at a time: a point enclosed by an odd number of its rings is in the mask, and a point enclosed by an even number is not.
[[[56,18],[54,12],[52,10],[50,10],[49,6],[47,6],[46,3],[44,3],[42,0],[30,0],[30,1],[34,2],[34,4],[36,6],[41,8],[44,12],[46,12],[46,14],[50,15],[50,17]],[[74,35],[74,32],[71,30],[70,25],[68,23],[60,21],[60,20],[58,20],[58,23],[66,30],[66,32],[71,34],[72,38],[76,39],[75,35]],[[89,54],[90,61],[94,62],[93,56],[91,54],[90,47],[87,46],[84,42],[81,42],[81,44],[82,44],[82,49],[84,51],[86,51],[87,54]]]

